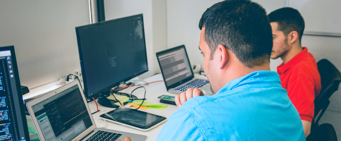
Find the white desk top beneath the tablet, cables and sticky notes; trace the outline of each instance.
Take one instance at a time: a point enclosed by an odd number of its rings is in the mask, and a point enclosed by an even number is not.
[[[157,75],[151,76],[147,79],[144,79],[144,81],[146,81],[146,82],[153,82],[153,81],[158,81],[158,80],[163,80],[161,74],[157,74]],[[144,82],[139,82],[139,83],[143,84]],[[30,90],[31,91],[30,93],[23,95],[23,97],[32,95],[32,94],[37,93],[37,92],[41,92],[41,91],[48,89],[48,88],[51,88],[51,87],[55,87],[55,88],[60,87],[56,84],[57,84],[57,82],[52,82],[52,83],[46,84],[44,86],[34,88],[34,89]],[[129,88],[124,89],[120,92],[130,94],[131,91],[136,87],[137,86],[129,87]],[[160,103],[160,99],[158,99],[158,97],[161,95],[175,96],[175,94],[170,94],[167,92],[164,82],[151,83],[149,85],[146,85],[145,88],[146,88],[146,99],[147,99],[145,101],[151,102],[154,104],[165,104],[165,103]],[[135,90],[135,92],[133,93],[133,95],[137,96],[138,98],[143,98],[143,96],[144,96],[144,89],[143,88],[137,89],[137,90]],[[93,113],[97,110],[96,104],[94,101],[89,102],[88,105],[89,105],[91,113]],[[142,110],[142,111],[166,117],[168,120],[170,115],[172,115],[176,110],[178,110],[178,106],[171,105],[171,104],[167,104],[167,105],[168,106],[163,110],[149,108],[147,110]],[[101,106],[99,104],[98,104],[98,107],[99,107],[99,110],[101,110],[101,111],[99,113],[93,114],[92,116],[95,120],[95,124],[97,127],[104,127],[105,126],[104,120],[102,118],[100,118],[99,116],[101,114],[109,112],[110,110],[113,110],[115,108],[108,108],[108,107]],[[103,123],[101,123],[101,122],[103,122]],[[155,141],[155,139],[158,137],[162,127],[165,125],[165,123],[166,122],[160,124],[158,127],[150,129],[148,131],[142,131],[142,130],[130,128],[127,126],[120,126],[120,124],[116,124],[116,123],[107,121],[107,124],[113,125],[113,126],[106,126],[106,128],[107,129],[113,129],[113,130],[119,130],[119,131],[123,131],[123,132],[146,135],[147,139],[145,141]]]

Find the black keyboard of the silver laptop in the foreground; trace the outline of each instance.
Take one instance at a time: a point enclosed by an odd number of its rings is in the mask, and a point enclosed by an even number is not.
[[[98,130],[86,141],[116,141],[122,134]]]

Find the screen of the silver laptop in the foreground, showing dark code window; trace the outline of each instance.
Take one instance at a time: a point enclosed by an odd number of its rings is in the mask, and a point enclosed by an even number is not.
[[[92,125],[78,85],[32,106],[46,141],[71,141]]]

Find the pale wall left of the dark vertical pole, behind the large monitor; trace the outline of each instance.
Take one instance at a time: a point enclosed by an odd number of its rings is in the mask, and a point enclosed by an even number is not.
[[[1,0],[0,46],[14,45],[29,89],[80,69],[75,27],[90,23],[87,0]]]

